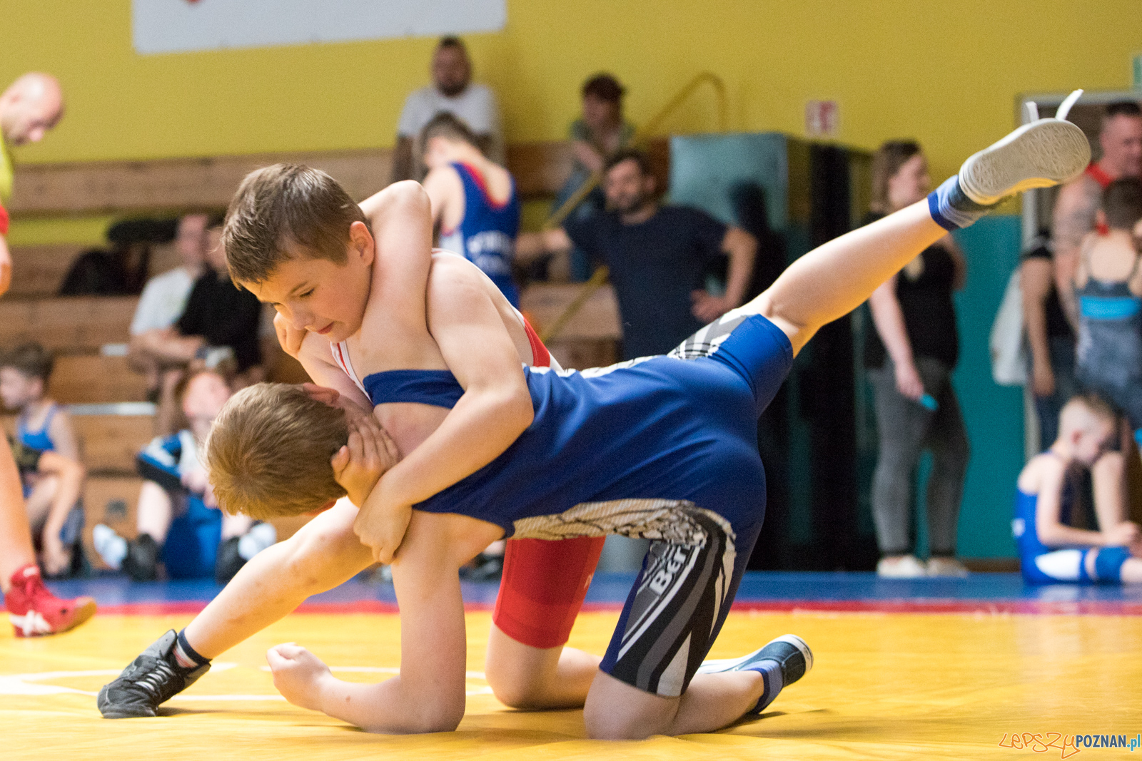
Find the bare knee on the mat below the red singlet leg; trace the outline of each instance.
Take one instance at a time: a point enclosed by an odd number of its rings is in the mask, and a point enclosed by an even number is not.
[[[601,661],[573,647],[524,645],[492,624],[484,674],[496,698],[513,709],[578,709]]]

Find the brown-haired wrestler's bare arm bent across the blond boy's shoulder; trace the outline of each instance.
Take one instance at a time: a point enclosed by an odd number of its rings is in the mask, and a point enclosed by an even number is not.
[[[354,528],[379,562],[400,544],[413,504],[498,458],[534,415],[520,355],[478,276],[457,258],[433,267],[428,324],[464,396],[365,500]]]

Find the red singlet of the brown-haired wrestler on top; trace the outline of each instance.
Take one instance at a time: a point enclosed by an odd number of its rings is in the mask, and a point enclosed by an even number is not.
[[[549,367],[552,355],[526,319],[524,330],[532,364]],[[565,643],[595,575],[604,539],[508,540],[504,580],[492,614],[500,631],[531,647],[546,649]]]

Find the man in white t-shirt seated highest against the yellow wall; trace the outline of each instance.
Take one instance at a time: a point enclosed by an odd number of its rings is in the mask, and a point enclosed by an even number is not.
[[[496,94],[485,84],[472,82],[472,60],[463,40],[441,38],[432,57],[432,82],[404,99],[393,149],[392,181],[419,177],[412,167],[412,143],[425,124],[441,112],[464,121],[475,133],[476,145],[484,155],[502,164],[504,136]]]

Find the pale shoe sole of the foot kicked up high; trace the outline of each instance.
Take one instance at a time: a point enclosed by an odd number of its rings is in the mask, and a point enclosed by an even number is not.
[[[1005,196],[1068,183],[1091,163],[1091,143],[1075,124],[1040,119],[983,148],[959,169],[959,187],[991,205]]]

